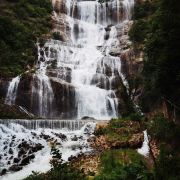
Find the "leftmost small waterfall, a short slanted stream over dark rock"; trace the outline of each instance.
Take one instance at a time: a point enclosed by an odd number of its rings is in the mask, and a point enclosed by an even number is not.
[[[5,104],[8,105],[15,104],[19,82],[20,82],[20,76],[13,78],[12,81],[10,82],[5,98]]]

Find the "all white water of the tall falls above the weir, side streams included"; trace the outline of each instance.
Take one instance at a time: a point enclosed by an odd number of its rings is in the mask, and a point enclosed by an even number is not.
[[[53,7],[61,4],[57,2],[52,1]],[[44,47],[37,43],[38,70],[33,75],[31,99],[35,106],[33,114],[43,118],[54,117],[56,107],[53,105],[57,100],[54,99],[47,69],[55,68],[57,78],[75,88],[75,102],[71,103],[77,119],[84,116],[115,118],[121,112],[118,112],[115,93],[117,85],[114,87],[113,84],[121,78],[128,92],[128,83],[121,73],[121,59],[111,56],[110,51],[121,49],[120,36],[125,23],[131,19],[134,0],[110,0],[105,3],[98,0],[64,0],[63,3],[67,13],[62,18],[61,13],[54,12],[54,18],[69,25],[64,30],[69,41],[48,40]],[[61,26],[58,28],[62,31]],[[15,104],[19,81],[20,78],[16,77],[10,83],[7,104]]]

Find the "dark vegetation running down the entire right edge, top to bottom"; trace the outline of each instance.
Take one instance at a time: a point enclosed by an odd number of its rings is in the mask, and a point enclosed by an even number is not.
[[[155,157],[154,179],[179,179],[180,107],[180,2],[178,0],[137,1],[134,24],[129,32],[134,48],[144,52],[141,74],[144,112],[158,112],[165,102],[168,113],[149,118],[151,142],[155,141],[159,155]],[[162,111],[162,110],[160,110]],[[155,113],[153,113],[155,114]],[[173,120],[175,122],[173,122]]]

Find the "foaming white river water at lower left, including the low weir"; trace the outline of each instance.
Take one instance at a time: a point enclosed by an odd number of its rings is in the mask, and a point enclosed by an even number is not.
[[[24,126],[20,124],[23,124]],[[42,128],[43,126],[44,128]],[[51,129],[51,127],[54,127],[55,129]],[[87,139],[93,133],[94,128],[95,123],[93,122],[78,122],[77,120],[1,120],[0,170],[4,168],[8,169],[13,164],[13,159],[15,157],[18,157],[18,145],[22,143],[22,141],[26,141],[32,146],[37,143],[40,143],[44,146],[42,150],[35,153],[35,159],[31,160],[30,164],[24,166],[23,169],[18,172],[11,172],[5,176],[2,176],[1,179],[20,180],[30,175],[32,171],[45,172],[49,170],[49,161],[51,159],[50,144],[55,141],[56,144],[59,143],[59,145],[57,145],[56,147],[59,148],[60,152],[62,153],[62,159],[65,161],[67,161],[68,157],[70,157],[71,155],[77,155],[80,152],[90,151],[91,149],[88,146]],[[32,133],[36,133],[36,135],[33,135]],[[63,141],[55,133],[64,134],[66,136],[66,140]],[[49,135],[49,139],[53,138],[53,140],[45,140],[41,137],[41,134]],[[14,140],[12,140],[13,136]],[[73,140],[75,136],[77,137],[77,140]],[[13,150],[12,159],[10,159],[12,154],[9,154],[10,147]],[[10,164],[8,164],[8,161],[10,162]]]

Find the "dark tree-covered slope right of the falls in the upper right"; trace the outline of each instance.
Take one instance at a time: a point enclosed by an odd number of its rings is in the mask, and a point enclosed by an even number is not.
[[[165,100],[176,113],[180,107],[180,2],[137,1],[135,23],[129,32],[135,47],[144,51],[144,112]]]

